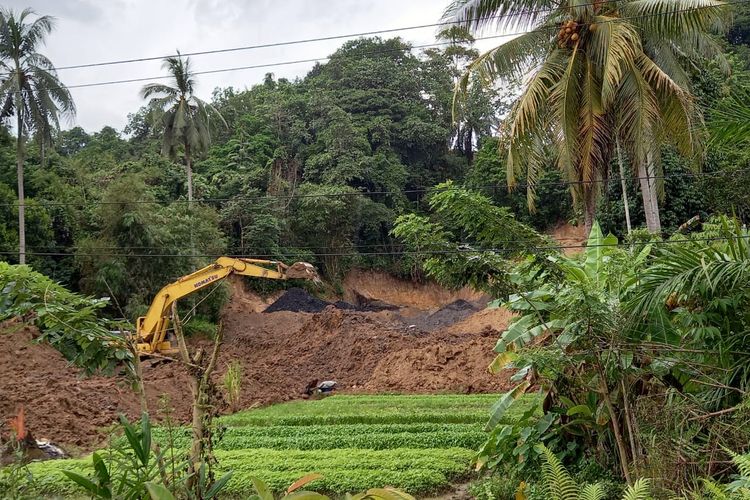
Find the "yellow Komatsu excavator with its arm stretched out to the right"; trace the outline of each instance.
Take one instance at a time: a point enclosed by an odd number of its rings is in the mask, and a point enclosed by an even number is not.
[[[156,294],[146,315],[138,318],[136,322],[135,344],[138,354],[140,356],[176,354],[178,348],[167,339],[172,304],[232,274],[272,280],[320,281],[315,268],[306,262],[297,262],[287,266],[273,260],[219,257],[215,263],[183,276]]]

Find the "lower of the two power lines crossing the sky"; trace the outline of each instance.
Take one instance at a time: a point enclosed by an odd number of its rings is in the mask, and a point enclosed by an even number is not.
[[[694,10],[716,9],[716,8],[724,7],[724,6],[728,6],[728,5],[739,5],[739,4],[746,4],[746,3],[750,3],[750,0],[734,0],[734,1],[731,1],[731,2],[725,2],[725,3],[721,4],[721,5],[703,5],[703,6],[698,6],[698,7],[689,7],[689,8],[685,8],[685,9],[676,9],[674,11],[667,12],[667,13],[657,12],[657,13],[653,13],[653,14],[641,14],[641,15],[637,15],[637,16],[626,16],[626,17],[620,17],[620,18],[616,18],[616,19],[611,19],[609,21],[597,22],[597,24],[618,23],[618,22],[627,21],[627,20],[646,19],[646,18],[649,18],[649,17],[666,16],[666,15],[669,15],[669,14],[677,14],[677,13],[681,13],[681,12],[690,12],[690,11],[694,11]],[[594,5],[594,4],[590,4],[590,5]],[[514,16],[516,16],[516,14],[512,15],[512,17],[514,17]],[[451,23],[451,24],[455,24],[455,23]],[[479,41],[479,40],[491,40],[491,39],[497,39],[497,38],[507,38],[507,37],[512,37],[512,36],[519,36],[519,35],[525,35],[525,34],[537,33],[537,32],[544,32],[544,31],[557,32],[558,29],[559,28],[557,28],[555,26],[542,26],[542,27],[535,28],[535,29],[532,29],[532,30],[527,30],[527,31],[519,31],[519,32],[515,32],[515,33],[504,33],[502,35],[492,35],[492,36],[486,36],[486,37],[478,37],[478,38],[475,38],[475,40]],[[438,43],[431,43],[431,44],[424,44],[424,45],[414,45],[414,46],[407,47],[405,49],[392,49],[392,50],[384,49],[384,50],[373,51],[371,54],[362,53],[361,55],[377,55],[377,54],[383,54],[383,53],[388,53],[388,52],[402,52],[402,51],[405,51],[405,50],[414,50],[414,49],[421,49],[421,48],[428,48],[428,47],[438,47],[438,46],[441,46],[441,45],[450,45],[450,44],[453,44],[453,43],[454,42],[452,42],[452,41],[446,41],[446,42],[438,42]],[[331,59],[331,57],[332,56],[323,56],[323,57],[310,58],[310,59],[298,59],[298,60],[293,60],[293,61],[282,61],[282,62],[276,62],[276,63],[255,64],[255,65],[250,65],[250,66],[237,66],[237,67],[232,67],[232,68],[221,68],[221,69],[214,69],[214,70],[207,70],[207,71],[196,71],[193,74],[194,75],[207,75],[207,74],[216,74],[216,73],[226,73],[226,72],[230,72],[230,71],[242,71],[242,70],[248,70],[248,69],[273,68],[273,67],[287,66],[287,65],[294,65],[294,64],[302,64],[302,63],[311,63],[311,62],[326,61],[326,60]],[[75,88],[90,88],[90,87],[99,87],[99,86],[105,86],[105,85],[117,85],[117,84],[124,84],[124,83],[138,83],[138,82],[145,82],[145,81],[151,81],[151,80],[164,80],[164,79],[169,79],[169,78],[171,78],[171,76],[169,76],[169,75],[159,75],[159,76],[154,76],[154,77],[129,78],[129,79],[121,79],[121,80],[109,80],[109,81],[104,81],[104,82],[83,83],[83,84],[69,85],[69,86],[46,87],[46,88],[43,88],[43,90],[61,90],[61,89],[75,89]],[[21,90],[21,91],[16,90],[14,92],[15,93],[19,93],[19,92],[28,92],[28,91],[26,91],[26,90]]]

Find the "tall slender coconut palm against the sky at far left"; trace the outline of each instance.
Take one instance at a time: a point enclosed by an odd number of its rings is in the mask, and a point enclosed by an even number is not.
[[[54,18],[37,16],[31,9],[20,13],[0,9],[0,83],[2,118],[15,116],[16,174],[18,180],[18,261],[26,263],[26,213],[24,161],[26,140],[36,133],[42,144],[60,129],[60,118],[75,116],[68,89],[60,82],[52,62],[37,52],[55,26]]]

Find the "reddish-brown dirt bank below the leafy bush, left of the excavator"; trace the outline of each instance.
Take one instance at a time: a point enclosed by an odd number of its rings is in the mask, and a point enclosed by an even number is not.
[[[89,447],[106,437],[105,429],[119,414],[136,418],[140,403],[122,377],[83,378],[80,370],[47,344],[33,341],[38,331],[20,324],[0,328],[0,428],[23,405],[26,427],[37,439],[68,446],[68,451]],[[147,375],[150,408],[162,394],[170,397],[175,412],[187,416],[187,378],[179,367]]]

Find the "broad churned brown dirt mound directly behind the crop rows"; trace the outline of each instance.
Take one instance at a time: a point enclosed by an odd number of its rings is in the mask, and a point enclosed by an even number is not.
[[[459,303],[442,314],[449,311],[455,324],[431,332],[410,328],[391,311],[236,311],[224,320],[223,362],[243,365],[242,406],[300,397],[315,379],[335,380],[345,392],[504,390],[507,378],[490,375],[487,366],[505,324],[462,329],[456,318],[465,321],[474,306]]]

